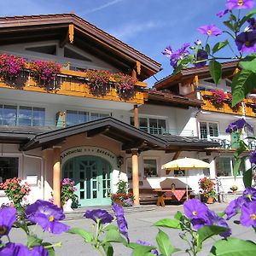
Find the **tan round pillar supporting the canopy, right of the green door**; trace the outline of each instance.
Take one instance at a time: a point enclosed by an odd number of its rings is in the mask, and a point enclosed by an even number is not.
[[[138,175],[138,152],[136,149],[131,149],[132,163],[132,191],[134,195],[134,205],[138,206],[139,201],[139,175]]]

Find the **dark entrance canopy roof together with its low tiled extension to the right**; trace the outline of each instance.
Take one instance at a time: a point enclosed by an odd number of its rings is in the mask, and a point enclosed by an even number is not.
[[[66,137],[78,134],[86,134],[87,137],[94,137],[102,134],[122,143],[122,150],[138,148],[140,150],[149,149],[173,149],[181,150],[202,150],[209,147],[218,147],[218,143],[199,140],[196,137],[179,137],[173,135],[152,135],[146,131],[137,129],[113,117],[97,119],[88,123],[73,125],[56,131],[47,131],[30,138],[30,140],[20,147],[20,150],[32,148],[48,148],[61,143]]]

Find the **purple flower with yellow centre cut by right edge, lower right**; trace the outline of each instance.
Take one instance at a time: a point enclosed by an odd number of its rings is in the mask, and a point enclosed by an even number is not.
[[[256,228],[256,201],[252,201],[246,205],[241,206],[241,224],[248,227]]]

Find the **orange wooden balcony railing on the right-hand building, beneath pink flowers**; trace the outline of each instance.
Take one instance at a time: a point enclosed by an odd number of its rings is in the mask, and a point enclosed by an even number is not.
[[[202,110],[218,112],[218,113],[232,113],[232,114],[242,115],[242,107],[239,107],[237,109],[230,108],[230,105],[224,102],[222,108],[216,108],[210,100],[212,97],[211,91],[201,90],[200,93],[201,93],[201,100],[204,102],[204,105],[202,105],[201,107]]]

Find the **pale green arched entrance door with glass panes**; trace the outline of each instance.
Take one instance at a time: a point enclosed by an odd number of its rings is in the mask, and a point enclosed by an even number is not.
[[[111,204],[111,171],[108,161],[96,156],[79,156],[63,166],[64,177],[75,182],[81,207]]]

